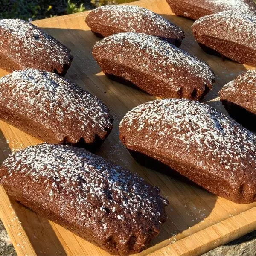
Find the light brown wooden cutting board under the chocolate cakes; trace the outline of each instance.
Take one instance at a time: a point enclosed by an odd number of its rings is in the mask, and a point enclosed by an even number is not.
[[[207,61],[216,75],[213,90],[204,99],[207,104],[225,112],[218,91],[228,81],[251,67],[207,55],[195,42],[192,21],[172,14],[165,0],[142,0],[132,4],[144,6],[176,23],[186,32],[181,49]],[[68,79],[102,99],[111,109],[114,128],[96,154],[137,172],[148,182],[159,186],[170,204],[166,207],[168,220],[151,246],[140,255],[198,255],[227,243],[256,229],[256,203],[235,204],[218,198],[197,186],[174,177],[171,170],[162,167],[147,169],[136,162],[118,138],[118,124],[135,106],[155,99],[140,90],[109,80],[99,69],[91,55],[96,38],[84,19],[88,12],[35,21],[71,49],[73,63],[66,75]],[[0,76],[7,74],[0,70]],[[0,160],[11,151],[17,151],[41,141],[23,131],[0,122]],[[79,238],[63,227],[48,221],[9,198],[0,187],[0,218],[18,255],[107,255],[98,247]]]

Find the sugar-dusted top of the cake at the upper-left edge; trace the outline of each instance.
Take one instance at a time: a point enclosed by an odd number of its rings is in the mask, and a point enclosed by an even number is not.
[[[12,58],[19,61],[23,68],[29,63],[41,61],[54,61],[61,65],[71,63],[70,49],[25,20],[0,20],[0,37],[0,47],[11,47]],[[26,61],[21,53],[26,55]]]

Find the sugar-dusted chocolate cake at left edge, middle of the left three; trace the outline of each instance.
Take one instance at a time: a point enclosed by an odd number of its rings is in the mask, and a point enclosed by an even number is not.
[[[49,143],[94,145],[112,118],[95,96],[55,73],[27,69],[0,78],[0,119]]]

